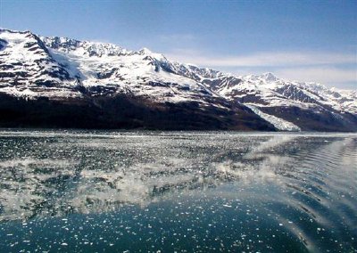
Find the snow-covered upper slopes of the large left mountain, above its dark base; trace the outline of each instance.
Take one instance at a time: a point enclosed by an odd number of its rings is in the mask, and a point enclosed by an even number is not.
[[[13,62],[11,68],[4,69],[4,72],[7,73],[3,75],[4,79],[1,83],[13,85],[13,77],[21,75],[20,72],[25,70],[29,78],[41,76],[39,80],[33,78],[30,83],[38,86],[38,84],[42,84],[41,82],[50,82],[47,87],[40,89],[41,93],[37,93],[38,95],[46,94],[48,86],[63,86],[65,84],[70,89],[82,86],[93,90],[95,87],[101,86],[104,88],[98,89],[104,89],[106,92],[109,88],[112,93],[124,92],[148,96],[162,102],[193,100],[204,104],[207,103],[205,97],[216,96],[195,80],[162,70],[168,69],[170,62],[162,54],[151,53],[145,48],[135,52],[117,45],[82,42],[61,37],[41,37],[42,41],[36,43],[33,39],[35,37],[37,38],[29,32],[5,29],[0,31],[0,38],[10,43],[4,48],[2,56],[6,63]],[[28,49],[27,45],[29,44],[33,45],[34,50],[32,47]],[[38,47],[37,44],[43,44],[46,52],[38,53],[37,49],[35,50]],[[48,63],[45,66],[39,64],[39,61]],[[24,68],[24,64],[30,68]],[[57,65],[61,70],[54,69],[54,65]],[[43,73],[45,75],[37,75],[37,72],[44,68],[48,69]],[[57,74],[61,72],[66,76],[65,78]],[[25,77],[23,80],[17,78],[16,91],[9,89],[8,85],[3,91],[36,96],[36,92],[31,93],[34,88],[29,87],[29,78]],[[62,92],[62,94],[64,93]],[[96,94],[104,94],[104,92],[99,91]],[[46,96],[52,97],[53,95]],[[61,96],[61,94],[59,95]]]

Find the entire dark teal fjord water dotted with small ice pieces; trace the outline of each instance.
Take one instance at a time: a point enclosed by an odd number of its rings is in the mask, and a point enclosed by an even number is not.
[[[356,252],[357,135],[0,131],[0,251]]]

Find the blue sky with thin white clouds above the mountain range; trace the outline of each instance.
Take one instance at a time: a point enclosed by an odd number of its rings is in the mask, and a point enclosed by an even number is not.
[[[357,90],[357,0],[0,0],[0,27]]]

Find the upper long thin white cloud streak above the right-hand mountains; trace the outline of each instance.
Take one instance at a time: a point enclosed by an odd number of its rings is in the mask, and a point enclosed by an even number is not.
[[[205,56],[193,50],[177,50],[166,55],[173,61],[190,62],[203,67],[288,67],[357,63],[356,55],[346,53],[267,52],[237,56]]]

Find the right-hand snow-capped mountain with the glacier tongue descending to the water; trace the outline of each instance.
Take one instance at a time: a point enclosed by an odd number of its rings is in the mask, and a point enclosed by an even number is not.
[[[357,90],[328,89],[317,83],[277,78],[271,73],[214,79],[217,80],[220,82],[214,86],[210,78],[203,83],[230,101],[244,103],[282,130],[333,130],[342,122],[342,127],[356,128]]]

